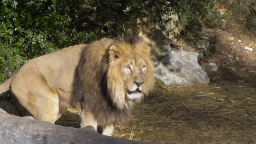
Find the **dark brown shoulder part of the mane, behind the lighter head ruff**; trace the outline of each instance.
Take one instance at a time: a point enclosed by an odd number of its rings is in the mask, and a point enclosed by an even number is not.
[[[108,65],[109,57],[107,47],[110,43],[104,44],[103,42],[104,40],[96,41],[96,43],[88,45],[82,52],[79,64],[75,69],[71,105],[74,106],[80,102],[82,109],[92,112],[98,122],[111,124],[124,121],[131,114],[131,110],[118,109],[109,97],[106,65]],[[92,59],[88,53],[92,54],[97,51],[96,45],[97,47],[106,47],[106,49],[99,49],[98,51],[102,53],[101,57],[98,57],[99,61],[90,63]]]

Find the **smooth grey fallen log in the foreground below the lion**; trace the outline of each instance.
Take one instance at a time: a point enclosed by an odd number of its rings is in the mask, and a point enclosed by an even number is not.
[[[93,127],[73,128],[9,115],[0,109],[0,143],[153,143],[98,134]]]

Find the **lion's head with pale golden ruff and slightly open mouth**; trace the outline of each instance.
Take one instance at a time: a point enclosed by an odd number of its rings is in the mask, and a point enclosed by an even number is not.
[[[124,109],[147,96],[154,87],[150,47],[139,37],[114,40],[109,47],[108,91],[113,104]]]

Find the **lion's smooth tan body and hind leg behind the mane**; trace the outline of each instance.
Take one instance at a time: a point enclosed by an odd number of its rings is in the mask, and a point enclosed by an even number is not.
[[[31,59],[0,85],[0,93],[10,89],[34,118],[54,123],[67,110],[75,67],[85,47],[70,46]]]

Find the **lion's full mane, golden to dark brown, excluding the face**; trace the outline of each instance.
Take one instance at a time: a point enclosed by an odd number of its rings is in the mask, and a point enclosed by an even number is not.
[[[125,97],[120,69],[122,62],[111,61],[115,56],[109,47],[118,45],[119,56],[130,55],[131,47],[141,43],[144,42],[139,37],[103,38],[86,46],[75,69],[72,104],[81,102],[82,109],[92,112],[97,121],[104,124],[124,121],[131,114],[133,105],[141,99],[127,100]],[[142,91],[143,96],[147,96],[154,87],[154,68],[149,60],[149,48],[146,43],[142,46],[145,48],[136,55],[146,59],[148,65]]]

